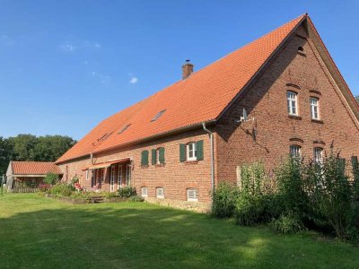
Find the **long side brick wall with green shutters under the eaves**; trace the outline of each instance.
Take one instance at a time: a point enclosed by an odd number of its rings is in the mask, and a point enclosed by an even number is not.
[[[189,143],[199,140],[204,141],[204,160],[181,163],[180,143]],[[164,166],[151,164],[151,150],[159,147],[164,147],[165,149]],[[148,167],[141,167],[141,152],[144,150],[149,151]],[[198,202],[210,202],[210,143],[208,135],[205,134],[203,130],[176,134],[155,142],[142,143],[134,147],[97,154],[94,156],[93,161],[100,163],[127,157],[133,160],[131,185],[136,187],[137,193],[140,194],[141,187],[147,187],[148,197],[155,197],[156,187],[164,187],[166,199],[185,201],[187,200],[187,189],[189,187],[196,187],[198,189]],[[81,161],[60,164],[59,167],[64,172],[64,179],[66,179],[67,166],[68,180],[77,176],[80,178],[82,186],[90,188],[91,177],[86,180],[86,172],[83,171],[83,168],[90,165],[90,158],[87,158]],[[125,166],[123,167],[123,173],[125,173]],[[105,175],[105,182],[101,186],[101,189],[109,191],[109,169]],[[125,175],[123,178],[125,178]]]

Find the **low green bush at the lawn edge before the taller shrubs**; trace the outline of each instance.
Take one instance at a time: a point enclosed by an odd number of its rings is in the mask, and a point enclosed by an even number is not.
[[[293,213],[289,213],[287,215],[281,214],[278,219],[274,219],[270,222],[270,228],[274,230],[276,233],[296,233],[298,231],[303,230],[302,221]]]

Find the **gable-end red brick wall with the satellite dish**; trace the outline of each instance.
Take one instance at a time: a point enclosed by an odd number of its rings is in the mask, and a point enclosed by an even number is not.
[[[298,34],[306,37],[303,29]],[[297,48],[304,48],[305,56]],[[292,83],[300,87],[286,86]],[[334,142],[335,150],[346,159],[359,155],[359,132],[352,112],[311,40],[298,35],[288,39],[256,82],[245,91],[241,100],[226,111],[216,126],[217,163],[219,180],[236,180],[236,167],[243,163],[263,161],[267,169],[275,167],[289,154],[291,143],[302,146],[302,156],[312,158],[314,141],[322,141],[325,151]],[[288,117],[286,91],[298,93],[299,118]],[[318,93],[311,92],[319,91]],[[311,120],[310,97],[320,98],[320,119]],[[254,122],[235,123],[246,108]],[[256,140],[253,139],[253,130]],[[291,142],[299,138],[301,142]]]

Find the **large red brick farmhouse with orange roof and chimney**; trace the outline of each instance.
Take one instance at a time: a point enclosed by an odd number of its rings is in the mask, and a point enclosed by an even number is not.
[[[64,179],[210,204],[244,163],[270,170],[289,153],[320,160],[332,146],[359,154],[358,105],[307,14],[197,72],[187,63],[182,76],[85,135],[56,162]]]

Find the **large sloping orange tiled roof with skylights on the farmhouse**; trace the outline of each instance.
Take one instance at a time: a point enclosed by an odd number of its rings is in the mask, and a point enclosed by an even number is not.
[[[57,163],[218,118],[307,15],[269,32],[187,79],[103,120]],[[156,121],[151,121],[166,109]],[[125,132],[118,131],[130,124]],[[106,139],[99,139],[109,134]]]

